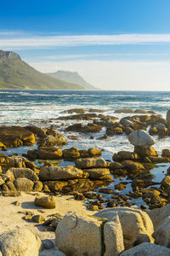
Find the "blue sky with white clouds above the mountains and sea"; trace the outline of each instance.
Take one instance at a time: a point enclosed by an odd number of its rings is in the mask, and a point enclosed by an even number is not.
[[[103,90],[170,90],[169,0],[2,1],[0,49]]]

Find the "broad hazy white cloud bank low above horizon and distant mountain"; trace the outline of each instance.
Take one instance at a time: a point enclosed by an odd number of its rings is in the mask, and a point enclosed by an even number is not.
[[[40,61],[41,72],[77,71],[103,90],[169,90],[170,61]]]

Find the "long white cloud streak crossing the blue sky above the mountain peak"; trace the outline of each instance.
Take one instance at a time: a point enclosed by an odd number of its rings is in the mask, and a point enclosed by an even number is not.
[[[4,34],[3,34],[4,36]],[[170,34],[121,34],[75,36],[19,36],[0,38],[1,49],[46,49],[65,46],[118,45],[118,44],[166,44]]]

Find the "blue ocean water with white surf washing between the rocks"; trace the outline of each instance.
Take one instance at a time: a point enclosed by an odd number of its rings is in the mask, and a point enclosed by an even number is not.
[[[66,126],[75,122],[86,124],[84,120],[59,120],[59,116],[66,115],[62,111],[71,108],[99,108],[106,114],[122,118],[123,116],[133,115],[128,113],[114,113],[119,108],[133,108],[153,110],[166,117],[167,110],[170,109],[170,92],[166,91],[84,91],[84,90],[0,90],[0,123],[1,125],[54,125],[56,131],[67,136],[75,135],[74,132],[65,133]],[[77,147],[79,149],[88,149],[98,147],[102,150],[102,156],[105,160],[112,160],[113,154],[120,150],[133,151],[133,146],[128,142],[126,135],[108,137],[105,140],[98,138],[105,134],[105,128],[95,134],[80,134],[78,139],[71,140],[67,138],[67,143],[63,148]],[[154,148],[161,154],[163,148],[170,148],[170,137],[156,138]],[[30,147],[8,148],[6,154],[23,154]],[[35,145],[32,148],[37,148]],[[4,152],[2,152],[4,153]],[[73,164],[68,161],[62,161],[61,166]],[[167,166],[158,165],[152,169],[153,180],[160,182],[164,177]],[[110,188],[118,183],[115,179]],[[130,184],[125,193],[130,189]],[[109,195],[108,195],[109,196]],[[138,201],[138,200],[137,200]]]

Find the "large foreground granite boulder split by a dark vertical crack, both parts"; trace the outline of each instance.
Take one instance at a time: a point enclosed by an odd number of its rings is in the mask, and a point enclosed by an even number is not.
[[[122,226],[115,214],[105,218],[70,213],[60,220],[55,230],[55,244],[71,256],[118,256],[124,249]]]

